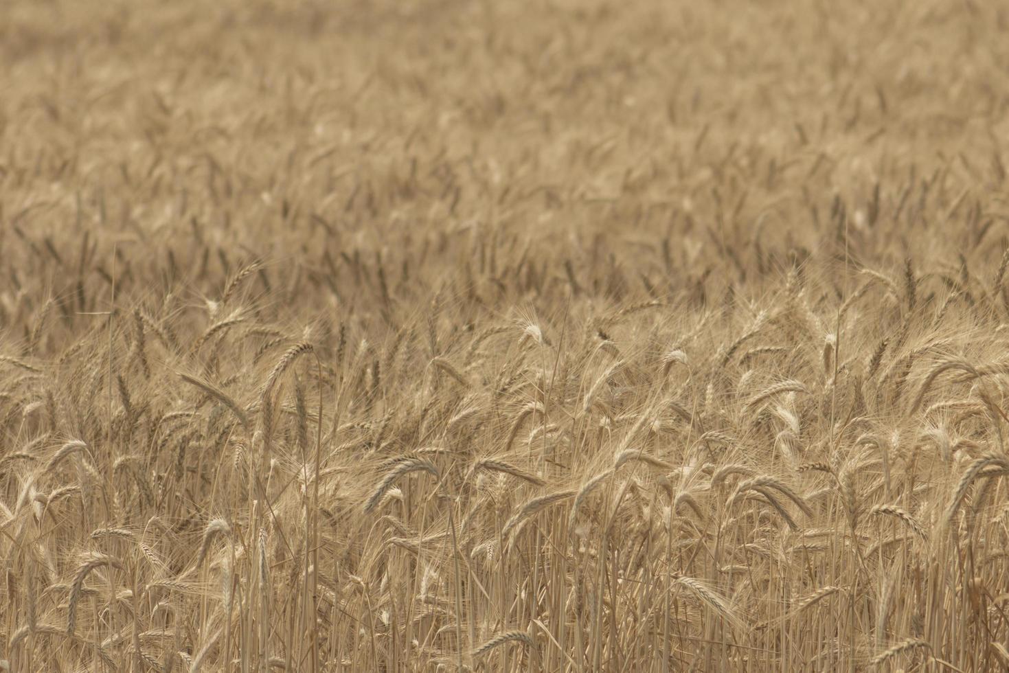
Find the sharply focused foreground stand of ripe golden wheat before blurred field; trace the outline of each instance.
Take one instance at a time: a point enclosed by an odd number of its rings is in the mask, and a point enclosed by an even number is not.
[[[292,332],[252,262],[73,342],[36,307],[0,358],[7,665],[1003,666],[1004,264],[936,268]]]

